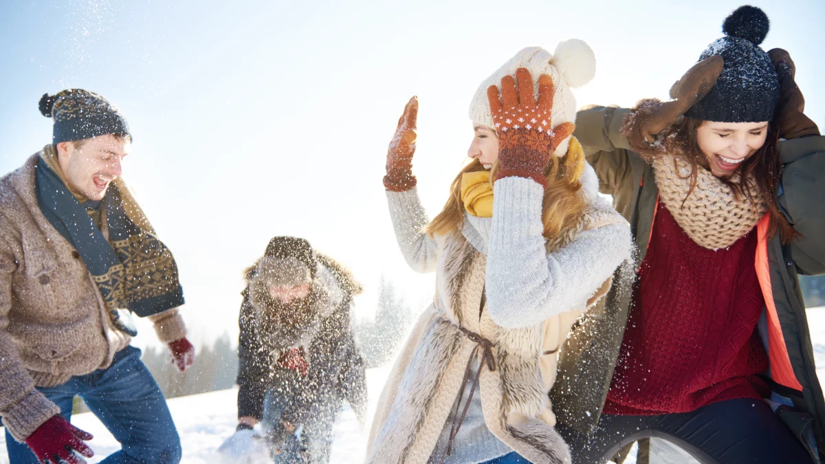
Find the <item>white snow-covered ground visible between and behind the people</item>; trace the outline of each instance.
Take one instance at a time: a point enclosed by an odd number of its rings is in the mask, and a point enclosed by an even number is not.
[[[811,328],[813,349],[815,351],[820,381],[825,379],[825,307],[808,310],[808,324]],[[371,369],[367,372],[370,390],[370,410],[368,417],[375,410],[375,403],[380,395],[389,367]],[[202,395],[192,395],[169,400],[169,407],[175,424],[181,434],[183,446],[182,464],[229,464],[238,462],[237,458],[225,457],[217,448],[235,430],[236,425],[236,390],[214,391]],[[89,462],[101,462],[111,452],[119,449],[115,438],[91,413],[77,414],[72,423],[92,433],[95,438],[90,442],[96,456]],[[369,424],[367,424],[369,427]],[[8,464],[4,438],[0,436],[0,464]],[[332,463],[355,464],[364,462],[366,431],[361,430],[356,415],[345,408],[335,425],[335,442],[332,445]],[[653,443],[653,455],[657,464],[686,464],[695,462],[679,450],[661,441]],[[634,464],[634,452],[625,461]],[[255,462],[263,464],[264,462]]]

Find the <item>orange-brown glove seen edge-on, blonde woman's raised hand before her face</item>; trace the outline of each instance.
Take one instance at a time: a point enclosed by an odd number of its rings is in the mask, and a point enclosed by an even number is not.
[[[387,151],[387,175],[384,188],[390,192],[407,192],[416,186],[413,176],[413,154],[415,154],[416,124],[418,119],[418,97],[410,98],[404,107],[404,114],[398,118],[393,140]]]

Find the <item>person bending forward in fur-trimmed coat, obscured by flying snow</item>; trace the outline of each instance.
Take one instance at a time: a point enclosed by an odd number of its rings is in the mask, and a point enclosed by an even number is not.
[[[238,429],[221,451],[234,454],[238,443],[249,443],[261,421],[276,462],[329,462],[342,402],[361,424],[365,419],[365,365],[350,326],[352,298],[361,286],[297,237],[271,239],[246,280]]]

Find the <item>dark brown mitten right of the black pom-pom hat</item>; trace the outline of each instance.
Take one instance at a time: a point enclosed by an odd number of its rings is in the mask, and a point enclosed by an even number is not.
[[[776,73],[779,74],[780,98],[774,120],[779,125],[779,136],[785,140],[819,135],[816,123],[804,115],[805,97],[796,85],[796,66],[790,54],[782,49],[768,52]]]

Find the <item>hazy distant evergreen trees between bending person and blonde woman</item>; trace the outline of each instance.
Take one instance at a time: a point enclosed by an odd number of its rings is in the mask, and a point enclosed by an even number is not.
[[[355,328],[366,366],[380,367],[389,362],[412,322],[408,306],[396,295],[393,284],[382,276],[375,320],[361,320]]]

